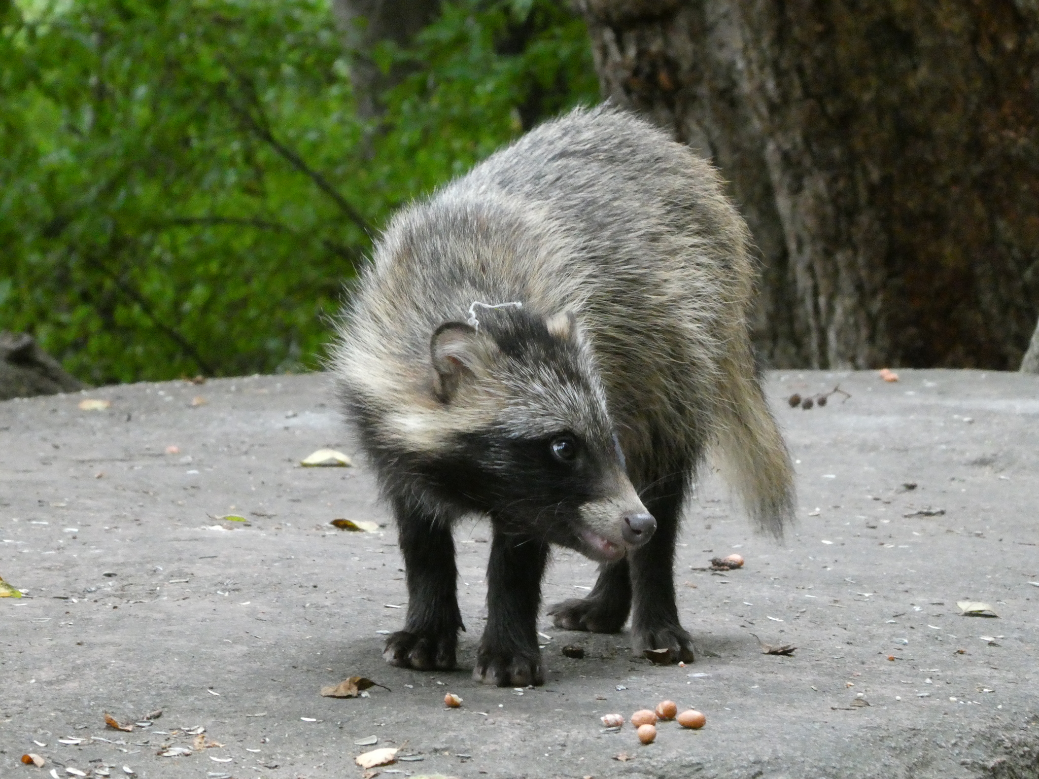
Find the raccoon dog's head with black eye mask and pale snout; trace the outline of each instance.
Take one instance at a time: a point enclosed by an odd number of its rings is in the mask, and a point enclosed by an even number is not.
[[[509,306],[480,311],[475,326],[445,322],[430,386],[447,431],[422,469],[460,508],[600,561],[652,536],[571,314]]]

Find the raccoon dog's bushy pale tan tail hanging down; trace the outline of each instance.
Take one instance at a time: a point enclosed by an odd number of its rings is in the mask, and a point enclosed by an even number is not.
[[[716,456],[755,530],[782,538],[794,521],[794,466],[756,377],[746,369],[724,371]]]

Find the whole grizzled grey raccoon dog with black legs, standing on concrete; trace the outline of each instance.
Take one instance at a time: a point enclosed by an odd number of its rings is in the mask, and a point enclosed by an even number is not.
[[[344,315],[334,371],[407,566],[396,666],[455,666],[452,525],[487,516],[474,676],[543,682],[551,544],[601,563],[556,625],[691,661],[672,562],[708,450],[760,529],[792,469],[754,370],[747,230],[718,174],[617,109],[542,125],[399,213]]]

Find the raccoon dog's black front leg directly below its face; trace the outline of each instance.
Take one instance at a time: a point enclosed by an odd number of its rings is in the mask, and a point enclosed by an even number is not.
[[[537,611],[548,544],[495,531],[487,564],[487,626],[473,678],[498,687],[543,684]]]

